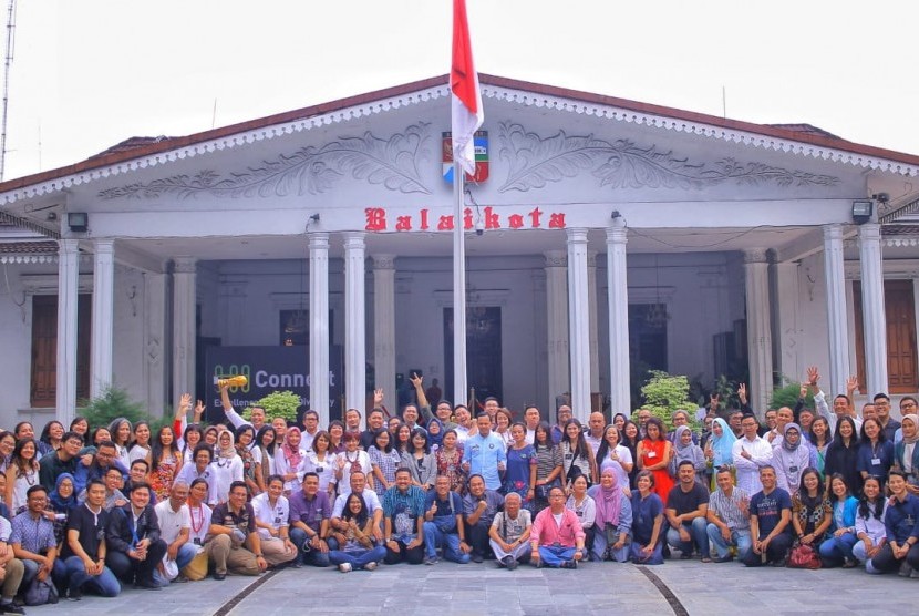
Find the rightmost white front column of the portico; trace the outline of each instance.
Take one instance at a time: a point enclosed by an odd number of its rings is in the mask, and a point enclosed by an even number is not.
[[[861,257],[861,315],[865,337],[865,371],[868,396],[887,392],[887,314],[884,308],[884,261],[880,225],[858,227]]]

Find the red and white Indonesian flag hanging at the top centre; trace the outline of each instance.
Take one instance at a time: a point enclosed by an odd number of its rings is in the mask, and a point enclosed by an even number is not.
[[[473,136],[485,121],[478,74],[473,64],[469,44],[469,24],[466,20],[466,0],[453,0],[453,65],[450,70],[451,132],[453,160],[469,175],[475,174],[475,143]]]

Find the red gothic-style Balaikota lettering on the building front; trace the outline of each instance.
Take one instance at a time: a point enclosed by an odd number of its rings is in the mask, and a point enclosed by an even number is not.
[[[394,223],[388,217],[388,212],[382,207],[364,208],[366,225],[364,230],[369,232],[411,232],[411,230],[453,230],[453,215],[432,215],[427,208],[419,209],[416,215],[394,216]],[[475,228],[475,215],[471,207],[463,211],[463,228],[473,230]],[[492,206],[482,208],[482,227],[488,229],[564,229],[564,212],[543,212],[534,207],[523,214],[507,214],[504,219],[502,215],[494,212]]]

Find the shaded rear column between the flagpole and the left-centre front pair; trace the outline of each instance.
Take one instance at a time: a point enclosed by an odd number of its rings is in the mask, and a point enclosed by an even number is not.
[[[395,257],[373,255],[374,388],[395,397]]]

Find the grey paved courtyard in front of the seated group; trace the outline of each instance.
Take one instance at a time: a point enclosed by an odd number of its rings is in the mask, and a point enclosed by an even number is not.
[[[247,594],[248,593],[248,594]],[[668,594],[672,593],[671,600]],[[126,591],[114,599],[28,607],[29,615],[158,614],[912,614],[919,579],[868,576],[860,569],[747,569],[737,564],[670,561],[658,567],[613,563],[578,571],[515,572],[440,563],[381,566],[375,572],[285,569],[262,578],[230,576],[161,592]]]

